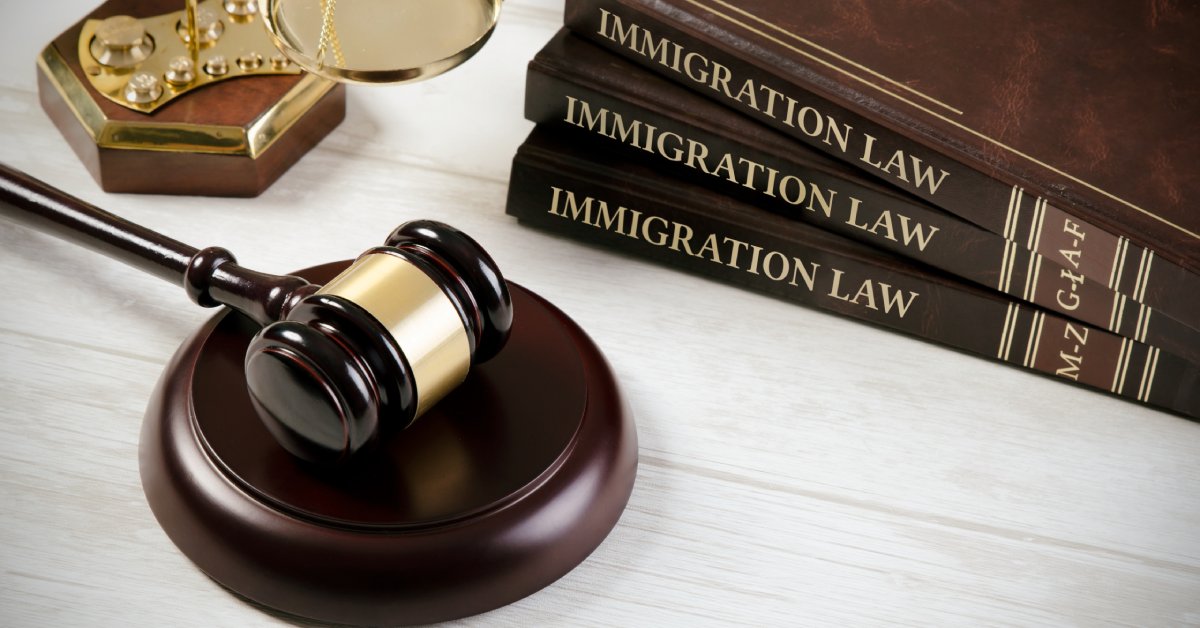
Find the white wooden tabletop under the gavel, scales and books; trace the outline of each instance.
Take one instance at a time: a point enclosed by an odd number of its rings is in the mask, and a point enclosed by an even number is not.
[[[1200,624],[1200,425],[520,227],[524,64],[560,0],[510,0],[463,67],[352,88],[262,197],[107,195],[37,103],[91,0],[0,7],[0,161],[251,268],[436,217],[606,352],[641,468],[612,536],[486,626]],[[197,570],[138,482],[144,405],[211,312],[0,225],[0,624],[271,626]]]

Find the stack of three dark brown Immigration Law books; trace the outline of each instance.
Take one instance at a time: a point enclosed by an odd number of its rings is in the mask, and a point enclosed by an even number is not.
[[[1200,10],[978,5],[568,0],[508,211],[1200,418]]]

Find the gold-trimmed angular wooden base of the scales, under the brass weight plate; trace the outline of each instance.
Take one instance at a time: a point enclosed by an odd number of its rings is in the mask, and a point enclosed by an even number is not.
[[[346,88],[311,74],[236,78],[145,114],[91,86],[85,72],[97,64],[79,58],[84,22],[181,7],[109,0],[59,35],[37,59],[42,108],[106,192],[258,196],[341,124]]]

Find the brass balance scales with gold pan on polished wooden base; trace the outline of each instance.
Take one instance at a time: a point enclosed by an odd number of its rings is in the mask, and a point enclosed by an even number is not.
[[[46,47],[38,91],[106,191],[257,196],[342,121],[343,83],[462,64],[500,1],[109,0]]]

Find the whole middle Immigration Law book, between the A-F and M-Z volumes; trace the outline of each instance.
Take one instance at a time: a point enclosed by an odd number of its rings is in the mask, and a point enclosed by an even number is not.
[[[1200,330],[1054,258],[874,181],[565,30],[529,62],[526,116],[600,138],[628,159],[758,208],[1200,364]]]

